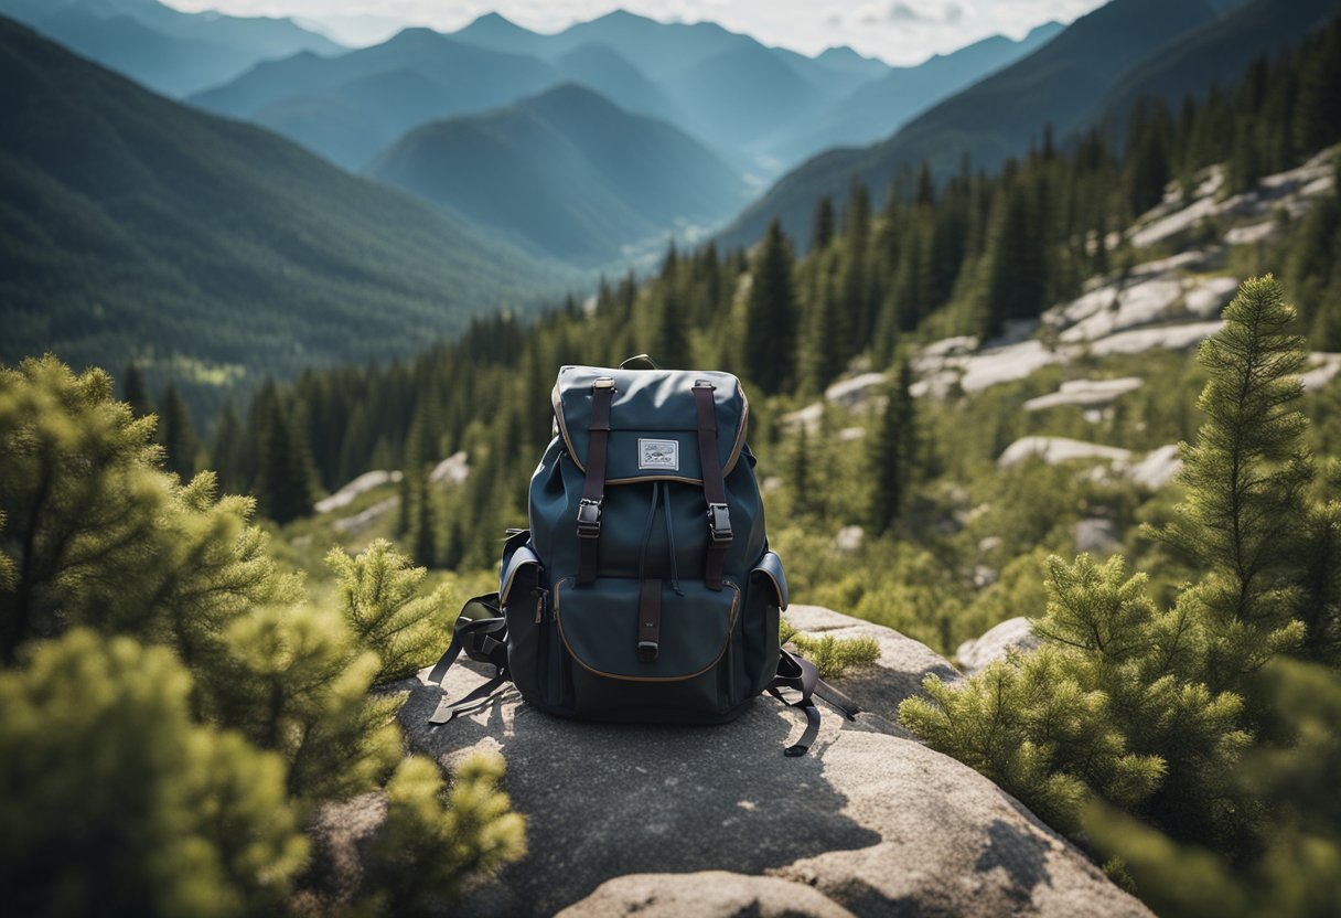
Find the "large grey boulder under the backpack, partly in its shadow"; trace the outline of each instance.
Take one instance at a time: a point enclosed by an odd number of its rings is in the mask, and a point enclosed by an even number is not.
[[[809,632],[869,633],[885,652],[839,683],[870,713],[848,722],[826,709],[801,758],[782,748],[802,718],[768,698],[724,726],[653,727],[562,721],[507,693],[430,729],[441,693],[405,683],[410,745],[447,766],[499,750],[527,817],[527,858],[457,911],[1149,914],[991,781],[901,735],[889,717],[923,675],[957,678],[944,658],[827,609],[789,616]],[[452,670],[448,695],[487,678],[473,666]]]

